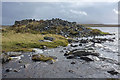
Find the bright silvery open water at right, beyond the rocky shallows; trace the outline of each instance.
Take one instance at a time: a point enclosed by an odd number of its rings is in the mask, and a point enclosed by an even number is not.
[[[105,42],[98,47],[98,51],[101,56],[118,61],[118,27],[92,27],[93,29],[99,29],[103,32],[114,33],[115,35],[101,36],[101,38],[115,38],[114,42]],[[99,36],[100,37],[100,36]]]

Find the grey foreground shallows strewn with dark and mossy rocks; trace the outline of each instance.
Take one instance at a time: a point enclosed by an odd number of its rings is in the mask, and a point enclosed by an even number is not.
[[[71,41],[71,40],[69,40]],[[67,47],[2,54],[3,78],[118,78],[120,62],[101,56],[98,44],[115,38],[76,39]],[[105,50],[105,48],[104,48]]]

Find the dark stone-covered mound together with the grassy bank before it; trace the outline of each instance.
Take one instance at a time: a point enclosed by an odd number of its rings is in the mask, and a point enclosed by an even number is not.
[[[59,18],[51,20],[26,19],[2,29],[2,52],[31,52],[33,48],[67,46],[74,37],[112,35],[98,29]]]

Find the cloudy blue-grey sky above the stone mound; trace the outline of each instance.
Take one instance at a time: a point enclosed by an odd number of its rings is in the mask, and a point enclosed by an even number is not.
[[[118,2],[2,2],[2,25],[52,18],[81,24],[117,24],[118,14]]]

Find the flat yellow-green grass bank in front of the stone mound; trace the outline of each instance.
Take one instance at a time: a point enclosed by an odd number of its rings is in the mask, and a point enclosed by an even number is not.
[[[39,42],[45,36],[55,38],[52,42]],[[57,46],[67,46],[66,38],[55,34],[32,34],[32,33],[15,33],[14,31],[3,32],[2,34],[2,51],[32,51],[33,48],[55,48]]]

